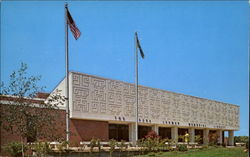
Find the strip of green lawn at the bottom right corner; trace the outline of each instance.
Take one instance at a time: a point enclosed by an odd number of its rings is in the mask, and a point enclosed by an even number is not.
[[[248,157],[244,148],[208,148],[203,150],[189,150],[187,152],[159,152],[136,157]]]

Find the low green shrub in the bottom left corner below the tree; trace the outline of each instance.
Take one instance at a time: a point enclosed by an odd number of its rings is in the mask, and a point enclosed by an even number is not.
[[[22,156],[22,148],[23,152],[27,151],[27,146],[22,144],[21,142],[10,142],[4,146],[4,150],[12,157]]]

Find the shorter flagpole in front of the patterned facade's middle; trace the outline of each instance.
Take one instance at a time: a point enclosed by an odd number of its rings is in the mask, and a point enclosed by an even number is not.
[[[136,123],[135,123],[135,142],[138,140],[138,48],[135,34],[135,91],[136,91]]]

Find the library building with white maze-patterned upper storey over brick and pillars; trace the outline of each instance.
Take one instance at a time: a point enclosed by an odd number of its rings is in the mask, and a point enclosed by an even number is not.
[[[65,79],[55,88],[64,94]],[[116,139],[135,141],[135,86],[117,80],[71,72],[69,75],[70,140]],[[138,137],[154,130],[162,138],[178,141],[188,132],[209,142],[216,134],[222,143],[224,131],[229,145],[234,144],[234,131],[239,130],[239,106],[139,86]],[[61,106],[65,108],[65,106]]]

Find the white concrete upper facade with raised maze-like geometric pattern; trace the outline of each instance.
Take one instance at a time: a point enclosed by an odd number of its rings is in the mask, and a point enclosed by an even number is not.
[[[134,84],[75,72],[69,81],[71,118],[135,122]],[[239,129],[232,104],[139,86],[138,106],[139,123]]]

